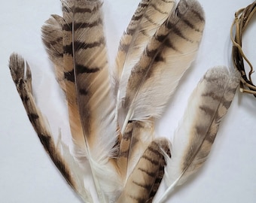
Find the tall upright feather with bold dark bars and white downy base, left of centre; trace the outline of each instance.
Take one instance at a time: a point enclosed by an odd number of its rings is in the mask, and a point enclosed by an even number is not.
[[[84,149],[90,163],[99,201],[108,202],[114,198],[119,180],[111,160],[116,152],[113,147],[117,133],[100,10],[102,2],[75,0],[62,4],[64,64],[67,65],[64,69],[66,80],[71,79],[75,86],[83,132],[83,138],[78,139],[84,139],[85,146],[79,141],[75,144],[79,144],[82,152]]]

